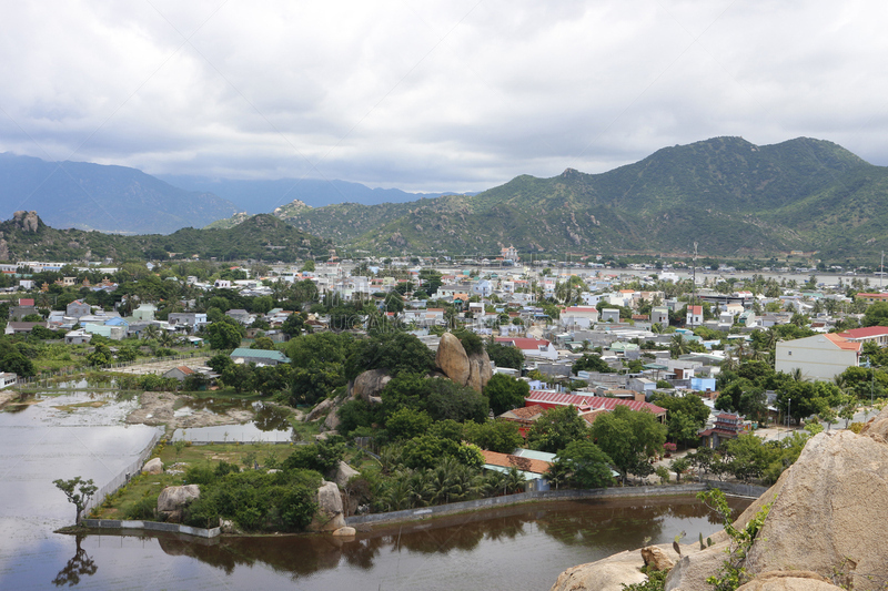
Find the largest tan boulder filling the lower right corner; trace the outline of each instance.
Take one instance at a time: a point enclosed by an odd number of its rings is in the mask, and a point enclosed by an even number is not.
[[[749,550],[751,575],[839,572],[847,579],[842,584],[856,590],[888,582],[888,544],[880,527],[888,514],[888,445],[875,437],[882,415],[866,434],[821,432],[808,441],[781,477],[783,487]]]

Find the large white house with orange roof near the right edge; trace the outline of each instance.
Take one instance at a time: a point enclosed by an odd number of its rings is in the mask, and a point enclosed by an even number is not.
[[[805,379],[831,380],[859,365],[861,343],[837,334],[815,335],[777,343],[775,369],[789,374],[801,370]]]

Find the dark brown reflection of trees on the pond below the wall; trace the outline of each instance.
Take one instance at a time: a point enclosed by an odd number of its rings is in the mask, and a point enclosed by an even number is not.
[[[737,512],[748,503],[745,499],[730,499]],[[374,571],[405,556],[421,559],[457,553],[488,563],[503,562],[509,560],[513,548],[524,548],[528,542],[542,554],[547,551],[564,554],[565,548],[577,548],[581,554],[595,557],[585,560],[588,562],[639,548],[646,538],[652,539],[650,543],[672,541],[683,529],[692,538],[697,532],[708,536],[718,529],[713,522],[717,523],[717,518],[693,497],[564,501],[450,516],[418,524],[379,527],[349,541],[326,536],[233,537],[213,541],[162,537],[159,543],[169,556],[188,556],[226,574],[238,567],[264,563],[275,572],[299,579],[341,565]],[[574,564],[569,560],[563,568]]]

